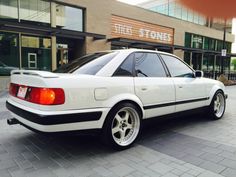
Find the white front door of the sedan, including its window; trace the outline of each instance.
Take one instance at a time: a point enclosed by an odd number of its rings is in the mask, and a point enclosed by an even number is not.
[[[180,59],[161,54],[173,78],[176,91],[176,112],[203,107],[208,99],[202,78],[196,78],[194,71]]]

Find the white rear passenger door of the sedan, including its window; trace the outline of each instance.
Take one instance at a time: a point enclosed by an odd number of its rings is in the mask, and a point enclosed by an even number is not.
[[[156,53],[136,52],[135,93],[142,101],[145,118],[175,111],[175,87]]]

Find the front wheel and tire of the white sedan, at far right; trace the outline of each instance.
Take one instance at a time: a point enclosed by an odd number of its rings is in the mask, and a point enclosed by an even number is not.
[[[225,112],[225,106],[226,106],[225,95],[221,90],[218,90],[215,93],[209,106],[208,114],[210,118],[213,120],[221,119]]]

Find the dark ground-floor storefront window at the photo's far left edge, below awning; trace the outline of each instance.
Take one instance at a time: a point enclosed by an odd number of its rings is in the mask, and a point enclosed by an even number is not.
[[[18,35],[0,32],[0,76],[9,76],[19,65]]]

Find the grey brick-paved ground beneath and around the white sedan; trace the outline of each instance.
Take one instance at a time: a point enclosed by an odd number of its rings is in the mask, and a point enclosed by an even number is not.
[[[6,123],[0,92],[0,177],[236,176],[236,86],[223,119],[204,114],[145,123],[136,144],[112,151],[96,136],[40,135]]]

